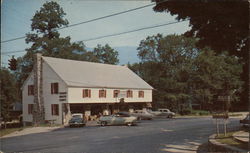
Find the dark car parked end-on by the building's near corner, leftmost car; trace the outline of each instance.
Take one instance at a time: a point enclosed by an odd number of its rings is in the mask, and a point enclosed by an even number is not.
[[[81,113],[72,114],[72,118],[69,120],[69,127],[83,127],[86,125],[86,120]]]

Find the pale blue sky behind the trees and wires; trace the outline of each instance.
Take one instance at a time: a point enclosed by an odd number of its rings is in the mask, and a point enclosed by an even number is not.
[[[86,1],[86,0],[55,0],[66,13],[65,19],[69,21],[69,25],[103,17],[113,13],[126,11],[152,4],[151,1]],[[2,41],[12,38],[25,36],[31,32],[31,18],[37,10],[40,10],[45,0],[2,0],[1,1],[1,52],[4,55],[2,65],[6,66],[8,59],[12,55],[15,57],[23,56],[25,52],[18,52],[6,55],[6,52],[19,51],[28,48],[31,44],[26,44],[25,39],[19,39],[11,42],[2,43]],[[81,41],[99,36],[116,34],[120,32],[131,31],[139,28],[165,24],[173,22],[175,16],[171,16],[167,12],[159,13],[153,11],[153,6],[139,9],[133,12],[105,18],[102,20],[81,24],[78,26],[59,30],[62,37],[70,36],[72,41]],[[102,38],[92,41],[84,41],[88,48],[94,48],[97,44],[109,44],[112,48],[123,48],[118,50],[126,55],[126,48],[138,47],[141,40],[147,36],[161,33],[182,34],[189,30],[189,21],[177,24],[167,25],[163,27],[127,33],[119,36]],[[125,49],[124,49],[125,48]],[[133,52],[137,52],[133,50]],[[128,50],[128,54],[131,51]],[[134,53],[135,56],[137,53]],[[123,57],[119,57],[123,58]],[[134,58],[126,58],[123,62],[134,62]],[[122,63],[124,64],[124,63]]]

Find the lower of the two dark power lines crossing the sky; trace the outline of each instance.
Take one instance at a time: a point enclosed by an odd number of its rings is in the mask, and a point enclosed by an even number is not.
[[[132,32],[137,32],[137,31],[152,29],[152,28],[158,28],[158,27],[167,26],[167,25],[171,25],[171,24],[176,24],[176,23],[180,23],[180,22],[184,22],[184,21],[187,21],[187,19],[186,20],[182,20],[182,21],[174,21],[174,22],[168,22],[168,23],[158,24],[158,25],[149,26],[149,27],[143,27],[143,28],[139,28],[139,29],[134,29],[134,30],[120,32],[120,33],[115,33],[115,34],[110,34],[110,35],[99,36],[99,37],[90,38],[90,39],[84,39],[84,40],[80,40],[80,41],[87,42],[87,41],[92,41],[92,40],[98,40],[98,39],[102,39],[102,38],[113,37],[113,36],[123,35],[123,34],[127,34],[127,33],[132,33]],[[74,42],[79,42],[79,41],[74,41]],[[11,53],[18,53],[18,52],[26,52],[26,50],[18,50],[18,51],[11,51],[11,52],[2,52],[2,55],[7,55],[7,54],[11,54]]]

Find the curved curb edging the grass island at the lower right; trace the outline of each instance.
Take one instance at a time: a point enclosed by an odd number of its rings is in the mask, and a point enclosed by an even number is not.
[[[216,134],[213,134],[213,135],[209,136],[208,143],[209,143],[210,146],[214,147],[216,150],[222,151],[222,152],[248,153],[247,150],[236,148],[236,147],[233,147],[233,146],[229,146],[227,144],[222,144],[222,143],[216,141],[215,136],[216,136]]]

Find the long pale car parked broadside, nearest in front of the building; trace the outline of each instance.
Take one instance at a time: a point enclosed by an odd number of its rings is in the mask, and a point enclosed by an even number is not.
[[[137,117],[131,116],[129,113],[116,113],[113,115],[101,116],[98,123],[105,125],[136,125]]]

